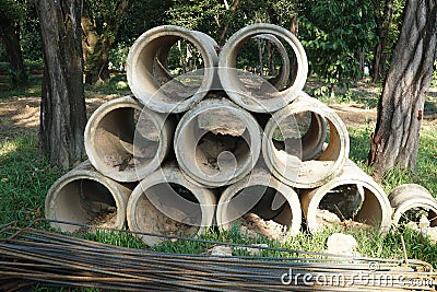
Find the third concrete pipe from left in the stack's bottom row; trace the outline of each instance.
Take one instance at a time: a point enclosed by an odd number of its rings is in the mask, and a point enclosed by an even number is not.
[[[241,180],[226,187],[217,205],[216,223],[229,230],[235,220],[249,213],[285,226],[286,235],[299,232],[302,210],[297,194],[267,170],[257,167]],[[263,234],[262,229],[259,232]],[[263,235],[269,236],[268,233]]]

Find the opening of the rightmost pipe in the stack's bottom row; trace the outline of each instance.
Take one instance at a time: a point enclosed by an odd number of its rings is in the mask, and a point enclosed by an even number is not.
[[[330,189],[320,200],[316,212],[317,224],[322,227],[379,229],[383,218],[377,195],[357,184]]]

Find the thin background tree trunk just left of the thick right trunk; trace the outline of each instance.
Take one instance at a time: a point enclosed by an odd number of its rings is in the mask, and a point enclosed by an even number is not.
[[[378,1],[379,3],[379,1]],[[383,51],[387,44],[387,38],[389,35],[389,28],[391,24],[391,19],[393,16],[393,0],[386,0],[385,9],[382,15],[379,15],[379,4],[375,8],[376,23],[377,23],[377,34],[379,37],[378,44],[374,49],[374,66],[373,66],[373,82],[378,82],[382,77],[386,52]]]

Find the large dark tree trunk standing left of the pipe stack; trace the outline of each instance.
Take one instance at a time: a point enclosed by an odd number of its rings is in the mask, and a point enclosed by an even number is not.
[[[52,165],[67,170],[84,155],[82,0],[35,2],[45,65],[39,143]]]

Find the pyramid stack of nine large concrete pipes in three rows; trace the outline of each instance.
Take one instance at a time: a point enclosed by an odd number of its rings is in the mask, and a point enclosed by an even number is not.
[[[274,47],[275,78],[237,70],[249,40]],[[178,42],[196,47],[202,69],[172,78],[167,59]],[[389,230],[390,202],[349,160],[345,125],[302,91],[307,58],[291,32],[255,24],[220,48],[203,33],[160,26],[137,39],[127,68],[133,94],[91,116],[88,161],[50,188],[47,218],[191,236],[255,213],[294,235],[303,218],[319,230],[323,203],[334,200],[339,217]],[[149,245],[163,241],[146,234]]]

